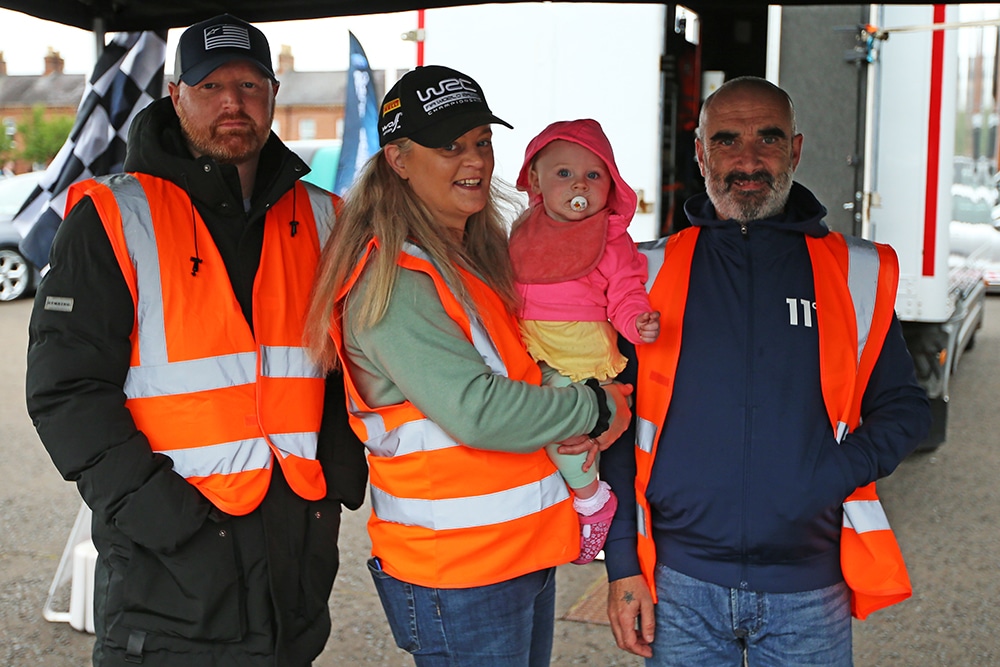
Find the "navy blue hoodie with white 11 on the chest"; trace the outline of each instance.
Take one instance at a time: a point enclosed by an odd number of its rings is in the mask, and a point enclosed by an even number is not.
[[[837,444],[820,387],[805,242],[829,233],[826,209],[793,184],[783,214],[745,226],[718,220],[705,195],[685,211],[701,232],[647,491],[657,559],[733,588],[830,586],[843,580],[843,500],[892,472],[929,428],[899,322],[893,317],[865,392],[863,424]],[[634,382],[635,352],[626,348],[621,380]],[[601,459],[601,477],[619,497],[605,546],[611,580],[639,574],[634,442],[626,433]]]

